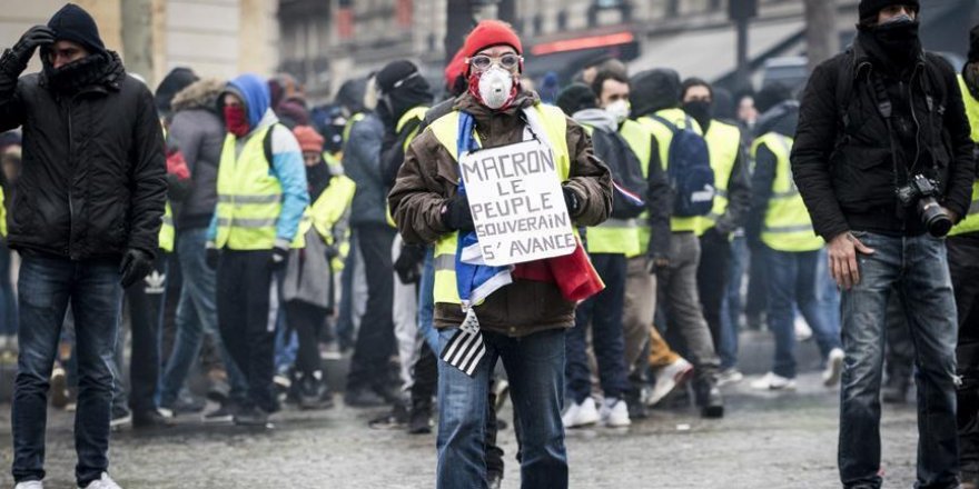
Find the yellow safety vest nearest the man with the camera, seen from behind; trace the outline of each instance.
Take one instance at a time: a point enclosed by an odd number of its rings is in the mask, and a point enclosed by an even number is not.
[[[815,251],[822,248],[823,240],[812,231],[809,210],[802,194],[795,188],[789,154],[792,139],[777,132],[769,132],[751,144],[751,158],[758,157],[758,149],[764,144],[775,156],[775,178],[772,181],[772,197],[765,210],[761,240],[778,251]]]

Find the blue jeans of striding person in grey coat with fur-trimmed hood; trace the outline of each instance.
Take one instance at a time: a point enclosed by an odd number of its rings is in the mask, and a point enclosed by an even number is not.
[[[231,399],[240,401],[248,392],[245,376],[228,356],[218,333],[218,308],[216,292],[216,273],[207,266],[207,229],[181,230],[177,236],[177,257],[180,260],[182,285],[180,299],[177,302],[175,320],[177,335],[174,349],[167,360],[160,387],[159,406],[172,407],[184,388],[187,373],[200,353],[204,333],[210,335],[211,341],[221,356],[221,362],[228,373]]]

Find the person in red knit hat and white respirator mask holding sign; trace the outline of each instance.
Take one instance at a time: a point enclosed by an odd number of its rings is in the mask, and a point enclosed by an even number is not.
[[[521,89],[522,43],[513,29],[504,22],[482,21],[466,38],[464,50],[468,58],[467,91],[455,99],[449,113],[435,120],[408,146],[388,196],[392,214],[406,242],[437,242],[436,355],[463,331],[459,326],[465,318],[456,279],[456,270],[465,268],[455,263],[453,243],[459,236],[471,236],[466,232],[473,231],[474,220],[465,194],[458,190],[459,139],[469,139],[466,134],[458,138],[459,122],[472,118],[472,139],[478,139],[483,148],[521,142],[532,132],[538,138],[546,136],[555,161],[566,158],[568,162],[562,187],[574,226],[596,226],[612,210],[609,169],[595,158],[581,126],[560,109],[542,104],[536,93]],[[527,130],[533,124],[537,126]],[[488,411],[488,378],[497,359],[503,360],[507,371],[521,433],[523,486],[567,487],[561,392],[564,335],[574,325],[575,301],[562,292],[556,276],[546,279],[535,272],[551,270],[547,261],[517,265],[510,285],[471,309],[478,317],[481,341],[486,348],[472,375],[438,360],[438,488],[487,487],[483,427]],[[522,269],[527,278],[521,275]]]

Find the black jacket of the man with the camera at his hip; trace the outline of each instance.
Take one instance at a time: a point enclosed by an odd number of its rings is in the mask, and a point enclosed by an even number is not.
[[[858,39],[851,51],[817,67],[802,99],[792,171],[813,228],[827,240],[848,230],[892,236],[924,231],[913,211],[898,216],[894,151],[871,77],[882,77],[894,117],[910,116],[914,126],[903,132],[918,134],[918,143],[896,138],[899,163],[912,174],[936,178],[941,204],[959,218],[969,209],[975,162],[955,71],[931,53],[896,76],[876,59]],[[910,92],[910,102],[900,98],[902,92]]]

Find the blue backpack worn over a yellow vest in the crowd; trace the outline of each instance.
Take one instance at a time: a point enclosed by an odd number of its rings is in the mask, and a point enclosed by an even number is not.
[[[673,189],[673,216],[690,218],[706,216],[714,207],[714,170],[711,154],[703,137],[694,132],[693,121],[686,118],[686,127],[676,124],[660,116],[651,116],[673,132],[666,162],[666,178]]]

